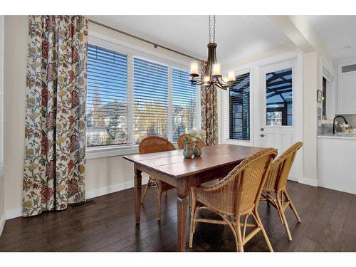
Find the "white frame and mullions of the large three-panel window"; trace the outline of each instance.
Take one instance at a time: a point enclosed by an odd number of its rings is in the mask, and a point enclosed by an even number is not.
[[[86,149],[86,159],[95,159],[100,157],[115,157],[121,155],[129,155],[138,153],[138,145],[135,145],[134,140],[134,95],[133,95],[133,59],[142,58],[147,61],[152,61],[154,63],[159,63],[168,67],[168,137],[169,141],[172,142],[172,68],[177,68],[181,70],[189,70],[189,62],[176,62],[172,61],[168,57],[159,57],[153,53],[143,52],[137,49],[129,48],[122,45],[120,40],[110,41],[106,38],[104,39],[98,33],[89,33],[88,43],[93,46],[98,46],[101,48],[106,48],[117,53],[122,53],[127,55],[127,144],[126,145],[103,145],[98,147],[87,147]],[[200,97],[199,97],[199,86],[197,86],[197,129],[200,129]],[[177,142],[174,142],[177,146]]]

